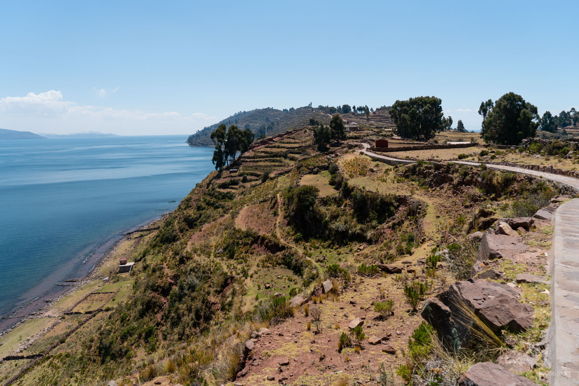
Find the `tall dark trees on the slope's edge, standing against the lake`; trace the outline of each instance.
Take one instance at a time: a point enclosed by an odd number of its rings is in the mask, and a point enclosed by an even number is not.
[[[220,124],[215,131],[211,133],[211,141],[215,144],[212,163],[215,170],[222,170],[226,165],[235,161],[237,153],[243,154],[254,141],[254,133],[246,127],[241,130],[234,124],[225,126]]]

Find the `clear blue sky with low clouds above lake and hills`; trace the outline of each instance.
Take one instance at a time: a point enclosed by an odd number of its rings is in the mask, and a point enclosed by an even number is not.
[[[272,106],[579,107],[575,2],[2,2],[0,127],[190,134]]]

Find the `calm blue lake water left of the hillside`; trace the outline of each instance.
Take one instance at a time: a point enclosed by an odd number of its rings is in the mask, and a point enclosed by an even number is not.
[[[212,149],[186,138],[0,141],[0,315],[50,297],[103,242],[176,208],[214,170]]]

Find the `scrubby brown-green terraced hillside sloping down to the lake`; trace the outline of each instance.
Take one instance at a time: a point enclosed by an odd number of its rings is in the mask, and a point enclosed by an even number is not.
[[[499,347],[497,337],[456,355],[431,345],[420,310],[472,276],[469,234],[537,197],[548,204],[555,189],[454,163],[392,167],[352,139],[331,145],[317,152],[312,127],[299,127],[211,172],[74,292],[0,337],[2,383],[401,385],[442,374],[439,384],[454,385],[469,363],[507,350],[503,341],[534,350],[549,320],[546,284],[518,285],[533,324],[500,334]],[[552,225],[529,230],[533,259],[486,262],[501,273],[491,283],[545,274]],[[130,273],[118,272],[120,258],[135,263]]]

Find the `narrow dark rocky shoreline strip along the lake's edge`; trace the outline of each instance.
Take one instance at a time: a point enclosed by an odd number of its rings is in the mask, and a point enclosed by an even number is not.
[[[152,224],[158,222],[159,220],[166,218],[174,210],[175,209],[165,212],[162,215],[156,216],[155,219],[145,220],[146,222],[143,225],[131,226],[128,228],[128,231],[124,230],[123,232],[128,233],[131,230],[145,229],[146,227],[151,226]],[[97,247],[95,247],[93,251],[91,251],[89,255],[86,256],[84,262],[89,260],[91,256],[97,255],[98,253],[102,253],[102,256],[98,258],[96,262],[94,262],[93,266],[90,268],[89,271],[87,271],[85,275],[76,279],[78,281],[74,282],[74,284],[72,285],[62,286],[63,288],[61,290],[62,292],[58,293],[59,292],[57,288],[58,284],[55,284],[51,286],[49,289],[47,289],[45,292],[43,292],[41,295],[36,296],[34,299],[28,300],[28,302],[25,303],[25,305],[21,307],[20,310],[14,310],[12,311],[12,314],[8,314],[2,319],[0,319],[0,338],[5,336],[12,330],[18,328],[20,325],[23,325],[23,323],[25,323],[29,319],[39,319],[47,317],[44,314],[47,311],[49,311],[50,308],[54,306],[54,304],[60,302],[60,300],[64,299],[65,297],[74,295],[74,293],[79,289],[81,289],[85,284],[89,283],[90,281],[96,280],[98,278],[97,275],[98,270],[100,269],[100,267],[102,267],[102,264],[111,259],[112,255],[114,255],[114,253],[119,249],[120,245],[122,245],[123,242],[126,241],[127,238],[131,236],[131,234],[132,233],[129,234],[116,233],[113,234],[111,237],[107,238],[107,240],[101,242],[101,244],[97,245]],[[112,239],[115,238],[115,236],[121,237],[115,242],[113,242],[112,245],[105,247],[104,251],[98,251],[99,248],[103,248],[105,245],[107,245],[108,242],[111,242]],[[52,293],[53,289],[55,290],[56,293]],[[56,297],[53,297],[55,295]],[[15,304],[14,307],[17,307],[17,305]],[[14,323],[9,322],[12,319],[15,320]],[[32,341],[30,341],[30,343],[32,343]]]

